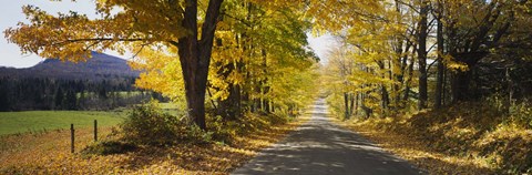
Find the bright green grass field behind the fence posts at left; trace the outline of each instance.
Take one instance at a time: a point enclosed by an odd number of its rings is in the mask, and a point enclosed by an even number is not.
[[[112,126],[120,123],[125,112],[96,111],[27,111],[0,112],[0,135],[27,133],[30,131],[91,127],[94,120],[99,126]]]

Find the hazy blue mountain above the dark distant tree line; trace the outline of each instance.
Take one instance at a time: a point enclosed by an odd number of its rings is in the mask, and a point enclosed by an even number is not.
[[[50,78],[64,80],[103,80],[115,78],[137,78],[140,71],[134,71],[127,61],[92,52],[86,62],[62,62],[57,59],[47,59],[39,64],[25,68],[0,68],[0,78]]]

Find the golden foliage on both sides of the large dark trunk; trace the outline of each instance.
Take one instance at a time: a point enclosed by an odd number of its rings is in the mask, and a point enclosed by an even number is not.
[[[173,44],[190,34],[182,27],[185,1],[94,2],[100,14],[96,19],[75,12],[52,16],[28,6],[24,13],[30,22],[6,30],[6,37],[20,45],[24,53],[64,61],[85,61],[91,51],[139,52],[131,63],[145,71],[137,80],[137,86],[162,92],[174,101],[184,100],[181,63]],[[313,55],[305,50],[305,31],[310,24],[303,17],[304,3],[226,1],[225,4],[212,54],[214,66],[211,66],[208,78],[215,90],[212,97],[223,100],[229,85],[244,86],[246,83],[246,91],[254,92],[258,82],[283,74],[267,71],[269,69],[290,66],[305,70],[311,66],[308,58]],[[205,3],[198,8],[206,8]],[[197,20],[201,24],[204,19],[200,14]],[[262,58],[267,65],[263,65]],[[264,86],[268,84],[263,83]]]

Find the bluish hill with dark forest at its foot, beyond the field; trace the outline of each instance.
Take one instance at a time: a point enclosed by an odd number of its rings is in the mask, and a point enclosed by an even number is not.
[[[110,110],[160,96],[134,86],[139,74],[126,60],[98,52],[86,62],[0,68],[0,111]]]

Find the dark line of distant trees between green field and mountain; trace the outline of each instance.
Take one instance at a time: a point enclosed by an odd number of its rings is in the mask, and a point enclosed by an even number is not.
[[[4,76],[0,79],[0,111],[112,110],[151,99],[164,100],[158,93],[136,89],[134,81]]]

